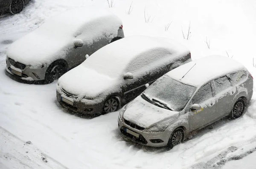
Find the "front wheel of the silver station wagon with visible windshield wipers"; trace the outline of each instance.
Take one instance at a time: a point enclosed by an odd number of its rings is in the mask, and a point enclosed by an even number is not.
[[[177,128],[172,132],[171,137],[169,138],[167,147],[172,149],[174,146],[182,143],[184,140],[184,131],[181,128]]]

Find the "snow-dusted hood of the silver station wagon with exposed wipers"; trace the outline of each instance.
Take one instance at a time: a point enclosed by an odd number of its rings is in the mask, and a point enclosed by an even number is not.
[[[143,128],[150,128],[156,124],[171,122],[179,116],[179,112],[163,109],[136,97],[128,104],[124,112],[124,119]]]

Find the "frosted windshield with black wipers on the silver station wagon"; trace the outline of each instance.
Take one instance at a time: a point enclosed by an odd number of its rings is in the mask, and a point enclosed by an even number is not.
[[[184,109],[195,89],[195,86],[180,83],[170,77],[163,77],[149,86],[141,96],[156,106],[179,112]]]

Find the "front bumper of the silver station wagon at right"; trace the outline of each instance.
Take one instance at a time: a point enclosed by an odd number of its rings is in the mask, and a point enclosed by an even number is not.
[[[145,132],[146,129],[143,130],[138,130],[135,129],[131,126],[129,126],[128,124],[126,124],[124,122],[124,119],[121,119],[121,117],[118,117],[118,128],[120,130],[120,132],[127,137],[128,139],[143,144],[145,146],[152,146],[152,147],[162,147],[162,146],[166,146],[168,141],[169,141],[169,137],[170,135],[168,134],[168,132],[164,131],[164,132],[158,132],[158,133],[148,133]],[[125,129],[129,129],[132,132],[135,132],[139,135],[139,137],[136,137],[132,134],[129,134],[128,132],[125,131]],[[163,142],[161,143],[152,143],[152,140],[162,140]]]

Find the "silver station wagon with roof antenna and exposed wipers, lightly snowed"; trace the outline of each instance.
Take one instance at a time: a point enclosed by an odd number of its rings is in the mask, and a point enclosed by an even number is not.
[[[166,73],[125,105],[118,126],[137,143],[172,148],[222,117],[240,117],[252,95],[253,77],[243,65],[203,57]]]

